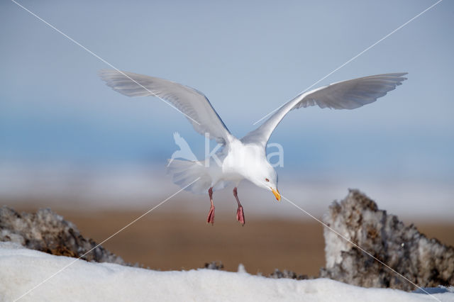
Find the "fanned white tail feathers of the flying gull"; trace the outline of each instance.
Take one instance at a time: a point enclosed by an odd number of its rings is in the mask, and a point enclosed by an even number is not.
[[[180,188],[184,188],[200,177],[185,189],[196,194],[206,193],[211,186],[211,177],[206,173],[206,167],[201,162],[172,160],[167,166],[167,174],[172,175],[173,182]]]

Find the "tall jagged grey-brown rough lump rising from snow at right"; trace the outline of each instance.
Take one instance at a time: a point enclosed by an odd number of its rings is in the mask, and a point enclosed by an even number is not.
[[[350,190],[340,203],[335,201],[323,220],[418,286],[454,285],[453,247],[428,239],[414,225],[404,225],[358,190]],[[365,287],[416,288],[328,228],[323,233],[326,268],[321,269],[321,277]]]

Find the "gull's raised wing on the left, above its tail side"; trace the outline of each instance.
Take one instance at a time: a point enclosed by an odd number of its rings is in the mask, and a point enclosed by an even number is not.
[[[231,133],[218,113],[206,96],[196,89],[166,79],[110,69],[99,71],[99,77],[125,96],[157,96],[168,101],[184,113],[201,135],[209,133],[211,139],[224,144],[231,140]]]

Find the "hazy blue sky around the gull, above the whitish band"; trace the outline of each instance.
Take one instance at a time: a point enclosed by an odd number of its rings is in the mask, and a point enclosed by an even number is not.
[[[203,91],[240,137],[435,1],[20,3],[119,69]],[[13,2],[0,8],[0,163],[164,163],[175,131],[202,156],[175,110],[112,91],[103,62]],[[284,146],[280,170],[452,182],[453,17],[443,1],[316,85],[409,72],[369,106],[292,111],[270,140]]]

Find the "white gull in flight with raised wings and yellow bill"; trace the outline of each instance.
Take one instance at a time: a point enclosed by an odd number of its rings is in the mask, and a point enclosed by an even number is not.
[[[282,118],[293,109],[309,106],[333,109],[355,109],[402,84],[406,72],[377,74],[336,82],[311,91],[304,91],[280,106],[270,118],[243,138],[236,138],[227,129],[206,96],[194,88],[167,79],[143,74],[103,69],[99,77],[115,91],[126,96],[156,96],[174,106],[187,117],[196,132],[216,140],[221,148],[205,160],[172,160],[168,171],[175,184],[196,194],[208,192],[210,209],[206,223],[214,224],[213,191],[233,184],[233,196],[238,203],[236,220],[245,224],[243,206],[238,198],[238,184],[243,179],[269,190],[277,201],[277,172],[267,161],[266,145]]]

